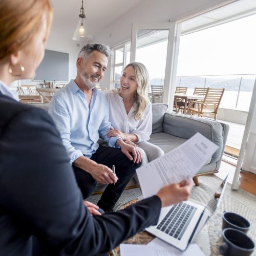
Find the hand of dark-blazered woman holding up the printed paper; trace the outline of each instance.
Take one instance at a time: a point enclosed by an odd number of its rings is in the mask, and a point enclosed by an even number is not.
[[[192,186],[192,180],[188,182],[183,180],[180,183],[163,186],[157,193],[157,196],[161,199],[162,207],[187,200]]]

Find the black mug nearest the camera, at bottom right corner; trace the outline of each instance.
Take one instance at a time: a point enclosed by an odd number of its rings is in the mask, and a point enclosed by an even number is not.
[[[246,233],[234,229],[225,228],[222,232],[223,244],[220,246],[220,253],[229,256],[247,256],[254,250],[254,242]]]

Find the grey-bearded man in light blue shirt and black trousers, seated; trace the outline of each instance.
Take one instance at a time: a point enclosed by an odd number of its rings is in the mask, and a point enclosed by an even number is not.
[[[108,46],[84,46],[76,61],[76,78],[53,95],[49,108],[83,198],[93,193],[97,182],[108,184],[97,204],[104,211],[113,210],[135,169],[141,165],[141,155],[135,145],[119,137],[106,136],[111,128],[109,106],[96,86],[108,66],[109,56]],[[99,145],[99,137],[109,147]]]

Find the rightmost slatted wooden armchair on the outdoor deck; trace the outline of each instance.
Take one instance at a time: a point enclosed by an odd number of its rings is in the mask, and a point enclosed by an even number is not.
[[[190,100],[188,105],[188,114],[198,116],[214,115],[217,119],[217,111],[224,93],[224,88],[207,88],[204,99],[202,101]]]

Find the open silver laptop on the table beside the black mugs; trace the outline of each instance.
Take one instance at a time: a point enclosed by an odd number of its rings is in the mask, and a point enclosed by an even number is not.
[[[227,177],[228,175],[206,207],[192,201],[164,207],[161,209],[157,225],[146,228],[146,231],[180,250],[185,250],[219,207]]]

